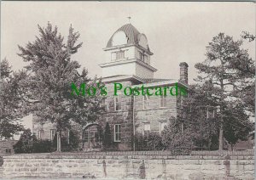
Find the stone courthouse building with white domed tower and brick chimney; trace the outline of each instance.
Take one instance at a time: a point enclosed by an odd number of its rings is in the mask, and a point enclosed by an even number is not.
[[[131,150],[134,134],[162,132],[170,118],[179,113],[182,98],[170,93],[160,96],[125,96],[120,92],[118,96],[113,96],[113,83],[119,82],[123,87],[173,87],[178,84],[179,87],[188,88],[188,65],[180,63],[178,80],[154,78],[156,69],[151,65],[153,53],[148,46],[148,39],[131,24],[123,25],[115,31],[103,50],[106,56],[100,65],[102,82],[109,94],[104,100],[106,112],[98,122],[81,129],[84,149],[98,148],[96,138],[99,132],[96,127],[104,130],[108,121],[114,147]],[[50,128],[45,125],[44,128],[36,126],[33,132],[36,132],[38,138],[43,138],[44,134],[44,138],[52,139],[55,128]]]

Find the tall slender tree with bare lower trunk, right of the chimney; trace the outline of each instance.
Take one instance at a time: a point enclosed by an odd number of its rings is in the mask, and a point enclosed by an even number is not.
[[[236,98],[231,98],[234,97],[232,88],[242,86],[244,83],[244,79],[241,79],[237,70],[234,69],[233,63],[231,63],[241,57],[249,57],[247,50],[241,48],[241,45],[241,40],[235,41],[233,37],[219,33],[217,37],[213,37],[212,42],[209,42],[207,46],[207,59],[203,63],[195,65],[201,74],[197,81],[211,82],[213,88],[207,92],[214,97],[214,101],[219,107],[219,150],[222,150],[224,145],[224,112],[227,111],[227,104],[239,103]]]

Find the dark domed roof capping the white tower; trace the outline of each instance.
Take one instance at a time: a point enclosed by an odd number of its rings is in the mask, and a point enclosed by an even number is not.
[[[133,26],[133,25],[131,25],[131,24],[123,25],[123,26],[121,26],[117,31],[115,31],[115,32],[113,33],[113,35],[114,35],[116,32],[118,32],[118,31],[124,31],[124,32],[125,32],[126,37],[128,37],[128,42],[127,42],[127,44],[136,44],[136,45],[139,46],[139,44],[138,44],[138,35],[140,35],[141,33],[140,33],[139,31],[137,31],[137,29],[136,29],[135,26]],[[110,37],[110,39],[108,40],[108,44],[107,44],[107,47],[106,47],[106,48],[111,48],[111,47],[113,47],[113,44],[112,44],[112,42],[113,42],[113,35],[112,35],[112,37]],[[141,47],[141,46],[140,46],[140,47]],[[150,50],[149,50],[149,48],[146,49],[146,50],[148,50],[148,52],[151,53]]]

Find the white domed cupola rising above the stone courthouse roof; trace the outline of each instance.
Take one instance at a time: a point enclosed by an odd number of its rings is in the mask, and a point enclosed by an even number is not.
[[[108,40],[106,59],[102,76],[133,75],[153,78],[156,69],[150,65],[153,53],[148,47],[148,39],[131,24],[121,26]]]

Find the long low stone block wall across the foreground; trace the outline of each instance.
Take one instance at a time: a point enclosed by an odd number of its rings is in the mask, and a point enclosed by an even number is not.
[[[254,179],[253,155],[9,155],[3,177]]]

